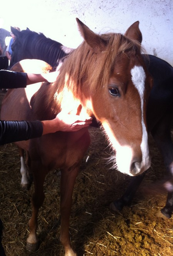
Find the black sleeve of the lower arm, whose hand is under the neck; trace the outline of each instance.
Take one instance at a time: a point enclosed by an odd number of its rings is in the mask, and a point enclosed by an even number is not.
[[[41,137],[43,125],[40,121],[0,121],[0,145],[26,141]]]

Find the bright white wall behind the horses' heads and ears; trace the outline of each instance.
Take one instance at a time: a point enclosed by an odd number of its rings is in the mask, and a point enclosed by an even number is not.
[[[9,0],[7,13],[2,5],[7,29],[29,27],[69,47],[82,42],[76,17],[96,33],[124,33],[139,20],[147,53],[173,65],[173,0]]]

